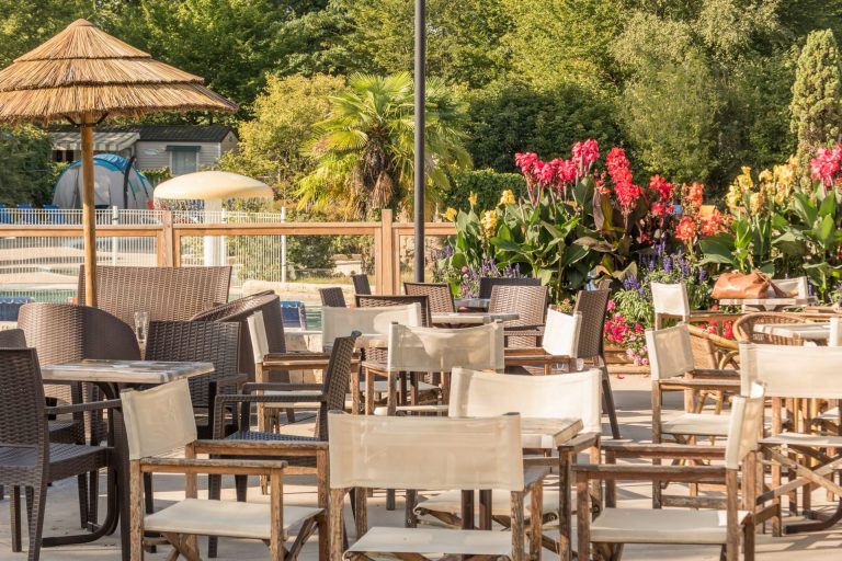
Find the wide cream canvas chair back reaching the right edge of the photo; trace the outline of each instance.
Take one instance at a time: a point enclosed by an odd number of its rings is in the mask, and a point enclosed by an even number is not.
[[[842,399],[842,347],[740,344],[742,393],[759,382],[771,398]]]

